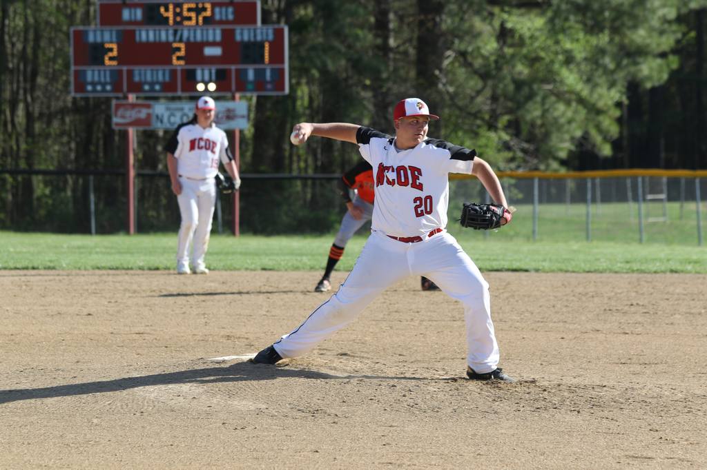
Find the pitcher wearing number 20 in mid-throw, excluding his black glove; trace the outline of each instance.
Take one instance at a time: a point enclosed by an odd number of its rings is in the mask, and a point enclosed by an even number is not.
[[[428,139],[428,121],[439,119],[417,98],[393,113],[395,138],[350,123],[299,123],[300,143],[310,135],[357,143],[373,167],[375,205],[371,234],[354,270],[336,294],[292,332],[260,351],[255,363],[276,363],[312,350],[351,323],[375,296],[410,275],[424,275],[464,306],[467,376],[513,381],[498,368],[489,284],[445,231],[450,173],[474,174],[491,198],[508,207],[501,183],[474,150]],[[510,222],[510,212],[505,223]]]

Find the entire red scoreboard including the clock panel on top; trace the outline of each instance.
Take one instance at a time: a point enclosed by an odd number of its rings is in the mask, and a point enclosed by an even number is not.
[[[97,0],[71,28],[71,95],[286,95],[288,30],[260,0]]]

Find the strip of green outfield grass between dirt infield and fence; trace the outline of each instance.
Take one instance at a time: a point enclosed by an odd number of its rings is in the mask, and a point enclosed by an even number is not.
[[[520,217],[519,217],[520,219]],[[515,224],[514,219],[514,224]],[[707,273],[707,247],[636,241],[533,242],[514,230],[450,232],[482,271]],[[508,229],[511,226],[506,227]],[[211,236],[206,263],[213,270],[323,270],[333,235]],[[346,246],[338,270],[350,270],[365,235]],[[0,231],[2,270],[173,270],[176,233],[61,235]],[[381,267],[385,269],[385,267]]]

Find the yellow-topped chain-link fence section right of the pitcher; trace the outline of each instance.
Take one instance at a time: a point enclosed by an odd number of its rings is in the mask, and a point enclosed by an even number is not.
[[[511,232],[507,236],[532,241],[702,246],[705,179],[694,172],[685,172],[689,176],[644,172],[648,174],[631,170],[564,177],[501,172],[508,204],[516,209],[513,223],[503,230]],[[450,199],[487,202],[489,196],[478,181],[462,178],[452,180]]]

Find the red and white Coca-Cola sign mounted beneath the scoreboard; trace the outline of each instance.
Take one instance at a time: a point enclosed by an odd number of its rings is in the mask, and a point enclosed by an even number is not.
[[[194,116],[194,102],[113,101],[115,129],[174,129]],[[216,102],[216,126],[245,129],[248,105],[243,101]]]

